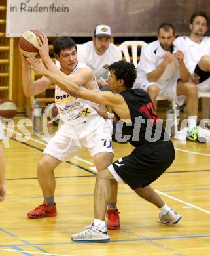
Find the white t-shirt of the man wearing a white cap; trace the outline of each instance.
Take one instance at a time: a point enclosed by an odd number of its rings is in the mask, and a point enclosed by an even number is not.
[[[77,58],[94,70],[96,79],[107,78],[109,71],[104,67],[122,60],[122,52],[116,45],[110,43],[107,51],[103,55],[98,55],[94,50],[93,41],[89,41],[78,47]]]

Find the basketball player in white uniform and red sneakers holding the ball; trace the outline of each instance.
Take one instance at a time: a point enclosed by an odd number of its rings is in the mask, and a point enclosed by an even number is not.
[[[48,39],[44,36],[39,40],[37,47],[49,70],[63,77],[69,76],[83,89],[99,91],[94,72],[77,61],[77,45],[70,37],[58,37],[54,41],[55,58],[60,62],[59,70],[52,62],[48,54]],[[52,85],[52,81],[41,77],[32,81],[31,70],[26,58],[22,58],[22,84],[26,96],[35,96]],[[55,88],[55,102],[64,124],[61,125],[56,135],[50,140],[44,149],[43,156],[38,163],[38,180],[43,191],[44,203],[27,213],[29,218],[53,217],[57,215],[54,202],[55,178],[54,169],[62,162],[75,156],[82,146],[88,148],[94,158],[97,171],[109,166],[113,159],[113,147],[111,144],[112,129],[103,117],[97,114],[94,107],[97,104],[88,100],[75,98],[58,86]],[[113,183],[110,203],[116,206],[117,183]],[[118,211],[117,211],[118,213]],[[109,220],[111,229],[120,228],[118,218]]]

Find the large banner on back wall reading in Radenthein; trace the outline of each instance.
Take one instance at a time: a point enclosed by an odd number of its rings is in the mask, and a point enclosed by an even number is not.
[[[48,37],[90,37],[97,25],[107,24],[114,37],[154,36],[162,22],[186,35],[192,13],[209,5],[210,0],[7,0],[6,35],[34,29]]]

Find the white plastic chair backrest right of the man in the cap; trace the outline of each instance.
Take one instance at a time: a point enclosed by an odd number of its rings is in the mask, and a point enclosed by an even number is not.
[[[138,63],[138,47],[144,47],[147,45],[144,41],[124,41],[118,47],[122,51],[127,62],[131,62],[131,58],[133,60],[133,64],[135,68],[137,68]],[[129,54],[128,49],[131,47],[131,56]],[[139,54],[140,56],[140,54]]]

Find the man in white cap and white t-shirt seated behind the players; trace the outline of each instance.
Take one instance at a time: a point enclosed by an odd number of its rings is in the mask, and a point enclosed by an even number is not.
[[[79,62],[94,70],[97,83],[102,90],[103,87],[107,87],[107,83],[104,83],[100,77],[107,79],[109,65],[122,60],[121,50],[111,43],[111,28],[103,24],[94,30],[92,41],[78,47],[77,56]]]

